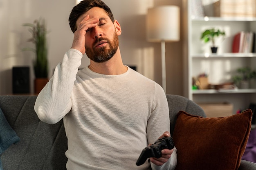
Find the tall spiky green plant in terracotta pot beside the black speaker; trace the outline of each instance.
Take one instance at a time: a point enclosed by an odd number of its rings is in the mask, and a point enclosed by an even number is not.
[[[35,20],[33,24],[26,23],[23,26],[29,27],[29,32],[32,34],[32,38],[28,41],[31,41],[35,44],[35,49],[33,48],[25,48],[25,50],[34,51],[36,54],[36,58],[33,62],[34,74],[35,74],[35,93],[39,93],[41,89],[46,85],[49,81],[48,79],[48,51],[47,51],[47,29],[45,20],[39,19]]]

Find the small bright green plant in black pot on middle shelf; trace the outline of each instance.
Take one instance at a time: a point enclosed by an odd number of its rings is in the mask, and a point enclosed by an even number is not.
[[[219,36],[225,36],[225,31],[220,31],[220,29],[211,28],[202,32],[201,39],[204,40],[205,43],[211,41],[211,52],[216,53],[218,47],[215,44],[215,38]]]

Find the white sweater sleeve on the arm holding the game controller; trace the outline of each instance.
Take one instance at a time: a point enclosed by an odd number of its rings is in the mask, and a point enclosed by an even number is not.
[[[170,131],[168,102],[164,90],[156,83],[154,104],[147,126],[148,142],[153,144],[165,131]],[[162,166],[150,163],[152,170],[174,170],[177,164],[176,151],[174,148],[171,158]]]

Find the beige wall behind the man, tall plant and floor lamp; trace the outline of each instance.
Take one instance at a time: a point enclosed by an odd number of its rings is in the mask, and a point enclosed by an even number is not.
[[[119,45],[123,62],[136,65],[137,71],[161,85],[161,45],[146,41],[146,12],[149,7],[177,5],[180,0],[104,0],[119,21],[122,35]],[[22,51],[33,47],[27,39],[31,33],[24,23],[32,23],[39,17],[47,21],[49,45],[49,77],[63,54],[71,47],[73,33],[68,24],[75,0],[0,0],[0,95],[12,93],[11,69],[13,66],[31,68],[31,92],[33,92],[34,53]],[[182,8],[181,8],[182,10]],[[182,14],[182,12],[181,12]],[[182,15],[181,15],[182,16]],[[182,22],[181,22],[182,23]],[[181,36],[182,39],[182,36]],[[89,64],[86,55],[81,67]],[[166,43],[166,93],[182,95],[182,43]]]

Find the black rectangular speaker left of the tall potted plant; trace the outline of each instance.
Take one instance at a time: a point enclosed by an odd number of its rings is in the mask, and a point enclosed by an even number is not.
[[[30,93],[29,67],[12,68],[12,92],[13,94]]]

